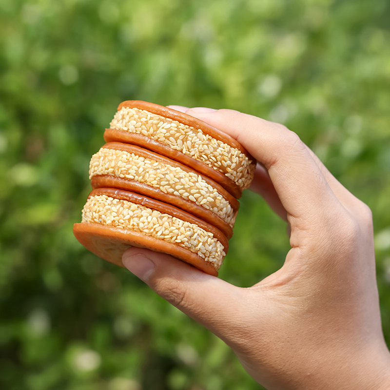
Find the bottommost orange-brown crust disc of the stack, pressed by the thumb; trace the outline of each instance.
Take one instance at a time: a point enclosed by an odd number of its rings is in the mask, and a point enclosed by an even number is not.
[[[78,241],[89,251],[121,267],[123,267],[123,252],[134,246],[170,254],[205,273],[218,276],[215,268],[199,255],[175,244],[141,233],[85,222],[75,223],[73,233]]]

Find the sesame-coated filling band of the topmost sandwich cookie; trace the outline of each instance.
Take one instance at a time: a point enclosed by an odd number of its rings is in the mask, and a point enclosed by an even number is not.
[[[242,190],[248,188],[253,179],[253,164],[239,149],[177,120],[138,108],[122,107],[115,114],[110,128],[164,143],[224,174]]]

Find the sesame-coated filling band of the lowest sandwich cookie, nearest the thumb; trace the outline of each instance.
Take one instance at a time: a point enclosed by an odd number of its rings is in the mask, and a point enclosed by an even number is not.
[[[225,257],[223,245],[210,232],[169,214],[107,195],[90,196],[82,222],[136,231],[174,243],[198,254],[218,269]]]

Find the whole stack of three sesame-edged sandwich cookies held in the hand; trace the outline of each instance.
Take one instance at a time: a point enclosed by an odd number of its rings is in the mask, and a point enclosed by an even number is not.
[[[118,265],[137,246],[217,275],[253,157],[203,121],[143,101],[121,103],[104,139],[73,229],[78,241]]]

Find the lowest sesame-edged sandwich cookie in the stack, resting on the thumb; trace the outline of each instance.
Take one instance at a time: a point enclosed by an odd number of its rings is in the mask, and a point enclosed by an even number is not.
[[[217,275],[228,250],[226,236],[213,225],[156,199],[113,188],[90,193],[73,232],[89,251],[120,266],[123,252],[136,246]]]

